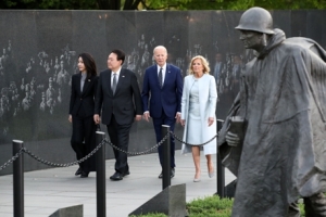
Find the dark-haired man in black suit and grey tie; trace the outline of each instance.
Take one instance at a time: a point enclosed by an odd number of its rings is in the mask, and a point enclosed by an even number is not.
[[[140,120],[142,114],[141,95],[136,75],[122,68],[125,54],[113,50],[108,58],[108,67],[100,73],[93,119],[106,125],[111,142],[124,151],[128,151],[129,131],[134,119]],[[129,175],[127,154],[113,149],[115,173],[111,180],[122,180]]]

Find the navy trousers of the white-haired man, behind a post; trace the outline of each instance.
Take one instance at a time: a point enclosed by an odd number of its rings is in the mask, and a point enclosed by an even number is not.
[[[170,126],[170,131],[174,132],[174,126],[175,126],[175,117],[167,117],[164,113],[164,111],[162,111],[162,116],[161,118],[153,118],[153,125],[154,125],[154,129],[155,129],[155,136],[156,136],[156,142],[159,143],[162,140],[162,125],[167,125]],[[165,135],[163,135],[164,137]],[[174,142],[174,138],[171,136],[171,167],[174,168],[175,167],[175,142]],[[159,157],[160,157],[160,164],[162,166],[163,164],[163,146],[160,145],[159,149]]]

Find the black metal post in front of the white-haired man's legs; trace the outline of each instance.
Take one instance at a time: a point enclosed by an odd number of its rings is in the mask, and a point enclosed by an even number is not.
[[[170,133],[170,126],[162,125],[162,138]],[[163,142],[163,178],[162,178],[162,189],[171,186],[171,136]]]

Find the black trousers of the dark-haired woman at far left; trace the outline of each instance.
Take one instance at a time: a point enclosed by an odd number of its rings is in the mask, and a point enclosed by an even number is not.
[[[93,117],[73,116],[73,135],[71,145],[76,153],[77,159],[85,157],[96,148],[96,125]],[[80,163],[79,166],[84,171],[95,171],[95,155]]]

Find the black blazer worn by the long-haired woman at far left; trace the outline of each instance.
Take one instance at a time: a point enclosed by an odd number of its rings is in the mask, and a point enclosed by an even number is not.
[[[72,76],[70,114],[77,115],[79,110],[84,110],[83,114],[85,114],[85,117],[92,116],[98,76],[85,79],[83,92],[80,91],[80,79],[82,73]]]

